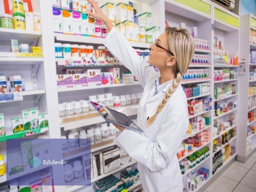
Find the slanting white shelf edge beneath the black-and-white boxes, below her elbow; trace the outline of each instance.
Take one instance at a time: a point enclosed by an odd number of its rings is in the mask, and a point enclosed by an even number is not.
[[[108,173],[106,173],[106,174],[100,175],[100,176],[98,176],[98,177],[92,178],[92,179],[91,179],[91,183],[93,183],[93,182],[95,182],[95,181],[97,181],[97,180],[100,180],[100,179],[102,179],[102,178],[104,178],[104,177],[107,177],[108,175],[112,175],[112,174],[114,174],[114,173],[116,173],[116,172],[118,172],[118,171],[121,171],[121,170],[125,169],[126,167],[131,166],[131,165],[136,164],[136,163],[137,163],[137,161],[135,161],[134,159],[131,159],[131,161],[130,161],[128,164],[121,165],[121,167],[118,168],[118,169],[115,169],[115,170],[113,170],[113,171],[111,171],[111,172],[108,172]],[[88,182],[88,181],[87,181],[87,182]],[[75,191],[75,190],[77,190],[77,189],[80,189],[80,188],[82,188],[82,187],[85,186],[85,183],[86,183],[86,181],[82,181],[81,183],[77,183],[77,186],[72,186],[72,187],[70,187],[70,188],[66,188],[66,192],[72,192],[72,191]],[[81,184],[81,185],[80,185],[80,184]]]

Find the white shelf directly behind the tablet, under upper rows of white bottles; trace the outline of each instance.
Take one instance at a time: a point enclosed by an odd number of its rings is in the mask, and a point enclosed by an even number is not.
[[[138,105],[120,108],[120,112],[127,116],[137,115]],[[78,127],[84,127],[88,125],[98,124],[105,122],[104,119],[95,112],[88,113],[84,116],[71,117],[60,120],[60,127],[64,127],[64,130],[76,129]]]

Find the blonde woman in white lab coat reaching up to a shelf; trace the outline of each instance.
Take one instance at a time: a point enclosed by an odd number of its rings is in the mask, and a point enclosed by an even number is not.
[[[137,124],[142,134],[121,126],[114,143],[138,161],[140,180],[146,192],[182,192],[182,177],[176,156],[188,129],[188,106],[181,87],[195,52],[195,42],[188,30],[167,27],[150,45],[148,63],[140,60],[125,37],[101,12],[95,0],[95,17],[105,23],[109,34],[104,42],[108,50],[137,77],[144,88],[138,107]]]

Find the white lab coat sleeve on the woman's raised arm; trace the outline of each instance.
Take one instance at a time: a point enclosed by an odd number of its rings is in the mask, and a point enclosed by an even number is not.
[[[103,44],[124,67],[132,72],[144,88],[148,75],[154,70],[145,60],[140,59],[140,56],[135,52],[124,35],[113,27]]]

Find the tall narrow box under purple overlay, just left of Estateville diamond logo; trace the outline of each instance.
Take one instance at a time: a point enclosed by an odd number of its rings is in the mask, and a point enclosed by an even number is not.
[[[31,141],[26,140],[20,142],[20,148],[23,157],[24,170],[33,168],[33,165],[30,164],[30,161],[33,159]]]

